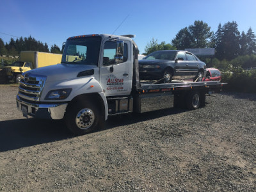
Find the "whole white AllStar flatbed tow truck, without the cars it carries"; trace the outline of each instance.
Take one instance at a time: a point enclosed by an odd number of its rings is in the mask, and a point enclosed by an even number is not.
[[[205,105],[220,81],[140,81],[132,35],[81,35],[67,39],[60,64],[21,76],[17,108],[28,117],[63,119],[74,134],[104,126],[108,116]]]

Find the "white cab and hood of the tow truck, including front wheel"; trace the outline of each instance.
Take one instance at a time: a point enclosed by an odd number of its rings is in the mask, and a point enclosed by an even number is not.
[[[99,114],[106,120],[108,113],[114,111],[108,109],[108,97],[131,95],[132,53],[132,40],[126,36],[70,37],[60,64],[22,74],[17,108],[24,116],[38,118],[61,119],[76,113],[79,122],[69,125],[67,117],[68,127],[75,133],[87,132],[90,127],[99,126]],[[93,105],[96,112],[87,105]]]

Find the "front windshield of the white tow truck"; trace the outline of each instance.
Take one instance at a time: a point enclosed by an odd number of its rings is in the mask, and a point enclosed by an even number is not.
[[[100,42],[100,36],[87,36],[67,40],[61,63],[98,65]]]

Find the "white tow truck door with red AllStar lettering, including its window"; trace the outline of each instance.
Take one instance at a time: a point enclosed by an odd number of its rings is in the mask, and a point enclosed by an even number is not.
[[[124,42],[124,59],[115,62],[116,42],[106,41],[100,67],[100,84],[106,96],[129,95],[132,87],[131,44]]]

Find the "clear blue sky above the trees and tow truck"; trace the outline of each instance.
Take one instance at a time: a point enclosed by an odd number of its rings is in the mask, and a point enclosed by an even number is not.
[[[256,35],[256,0],[0,0],[0,38],[6,43],[13,36],[31,35],[49,49],[54,44],[61,48],[69,36],[112,34],[125,17],[115,35],[136,35],[141,53],[153,37],[170,43],[195,20],[203,20],[214,32],[218,24],[236,21],[240,32],[251,27]]]

